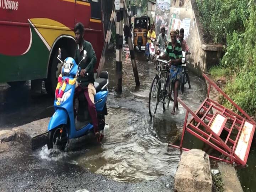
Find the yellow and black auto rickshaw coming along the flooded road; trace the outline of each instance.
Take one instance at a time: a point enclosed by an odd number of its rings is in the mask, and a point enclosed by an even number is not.
[[[146,46],[148,42],[148,30],[150,30],[150,18],[148,16],[135,17],[133,27],[133,44],[141,50],[142,46]]]

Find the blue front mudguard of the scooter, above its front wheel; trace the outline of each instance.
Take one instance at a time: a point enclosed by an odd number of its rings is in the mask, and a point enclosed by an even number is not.
[[[48,130],[52,130],[62,124],[67,124],[68,113],[62,108],[58,108],[50,119]]]

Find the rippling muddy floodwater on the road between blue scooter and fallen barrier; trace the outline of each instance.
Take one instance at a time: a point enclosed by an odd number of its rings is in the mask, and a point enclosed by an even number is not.
[[[47,150],[46,146],[39,152],[42,158],[69,161],[93,172],[102,174],[117,181],[138,182],[153,180],[166,175],[174,176],[180,158],[180,152],[167,147],[180,136],[185,110],[175,116],[171,111],[162,111],[159,105],[156,116],[150,119],[148,113],[148,95],[156,71],[153,64],[145,62],[143,53],[137,53],[137,66],[140,86],[135,86],[132,64],[128,48],[123,54],[123,91],[116,94],[115,87],[115,55],[110,54],[105,70],[110,75],[108,86],[108,116],[106,117],[105,139],[101,145],[88,143],[89,137],[73,141],[74,146],[68,152]],[[192,89],[185,85],[185,94],[181,95],[188,106],[195,110],[205,97],[205,86],[202,79],[191,75]],[[170,103],[170,108],[172,103]],[[78,143],[79,144],[78,144]],[[87,145],[85,144],[87,143]],[[72,151],[72,152],[71,152]]]

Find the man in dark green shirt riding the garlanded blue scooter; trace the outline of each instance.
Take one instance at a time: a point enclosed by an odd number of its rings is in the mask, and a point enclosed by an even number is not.
[[[77,43],[74,57],[75,62],[80,62],[83,57],[82,53],[84,50],[86,50],[87,52],[87,59],[80,64],[81,72],[80,76],[77,79],[77,81],[79,82],[79,86],[76,87],[75,98],[78,97],[81,93],[84,94],[84,97],[88,102],[88,111],[92,119],[92,124],[94,126],[94,133],[98,140],[98,138],[100,137],[100,133],[98,132],[97,112],[94,105],[94,96],[96,94],[96,90],[94,87],[94,67],[96,64],[96,55],[92,44],[84,40],[84,25],[82,23],[77,23],[75,25],[74,32],[75,40]]]

